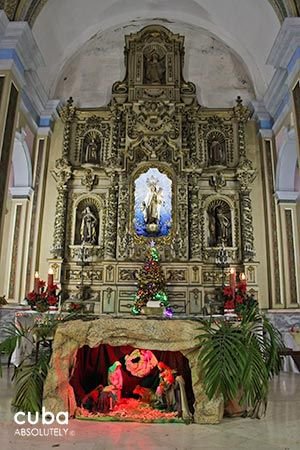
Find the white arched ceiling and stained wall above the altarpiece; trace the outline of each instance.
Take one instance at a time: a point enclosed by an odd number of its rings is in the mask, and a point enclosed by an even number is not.
[[[101,61],[110,76],[106,75],[108,79],[103,79],[102,85],[96,83],[98,91],[110,91],[111,84],[122,79],[125,34],[136,32],[142,26],[154,22],[185,36],[186,78],[198,83],[198,88],[202,89],[200,102],[204,98],[206,106],[213,106],[216,99],[210,101],[210,92],[203,92],[205,80],[202,78],[201,83],[200,78],[195,80],[193,76],[196,73],[196,63],[202,65],[198,70],[199,77],[205,76],[205,66],[210,66],[211,90],[216,95],[215,88],[220,84],[224,72],[223,88],[227,89],[228,96],[239,91],[243,95],[244,89],[244,92],[247,91],[246,97],[261,98],[273,75],[273,68],[266,64],[266,60],[279,31],[280,21],[285,16],[298,14],[297,2],[298,0],[0,0],[0,7],[5,7],[11,19],[25,19],[32,25],[45,60],[45,67],[40,70],[39,75],[51,97],[56,94],[63,98],[76,89],[82,93],[82,89],[95,84],[97,71],[101,72],[98,70]],[[210,51],[204,57],[205,51],[209,50],[209,42],[213,42],[211,47],[218,49],[214,48],[215,58]],[[87,51],[95,55],[97,49],[99,66],[95,58],[88,59],[84,55]],[[221,56],[227,61],[225,66],[218,64]],[[84,68],[84,64],[88,67]],[[112,67],[116,70],[110,70]],[[72,84],[71,70],[76,72],[76,69],[77,72],[80,69],[78,77],[81,77],[81,82],[78,82],[77,77]],[[92,95],[90,90],[86,99]],[[85,104],[85,100],[82,104]],[[225,104],[226,99],[224,106]]]

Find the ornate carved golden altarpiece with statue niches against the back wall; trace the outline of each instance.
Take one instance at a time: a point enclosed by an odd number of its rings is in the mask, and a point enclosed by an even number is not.
[[[182,75],[183,36],[153,25],[125,41],[126,75],[113,84],[111,102],[79,109],[70,99],[61,110],[63,149],[52,171],[55,279],[70,298],[85,286],[95,312],[129,313],[136,271],[154,239],[175,312],[201,314],[222,282],[216,254],[223,243],[257,293],[249,110],[240,98],[232,109],[198,104]],[[134,228],[135,180],[149,168],[172,181],[166,236],[138,236]]]

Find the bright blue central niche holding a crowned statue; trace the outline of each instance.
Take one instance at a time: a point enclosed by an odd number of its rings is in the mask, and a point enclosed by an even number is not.
[[[138,236],[165,237],[172,226],[172,180],[150,168],[135,180],[134,229]]]

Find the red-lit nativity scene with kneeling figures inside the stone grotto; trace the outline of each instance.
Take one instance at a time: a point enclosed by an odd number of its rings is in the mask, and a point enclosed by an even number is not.
[[[187,400],[185,381],[177,370],[172,370],[165,362],[158,361],[155,354],[150,350],[133,349],[130,351],[124,347],[100,346],[99,356],[101,361],[110,359],[112,354],[122,354],[120,360],[115,361],[108,367],[106,373],[98,373],[97,378],[103,384],[99,384],[88,394],[86,373],[84,378],[80,376],[79,365],[77,366],[70,383],[74,388],[77,404],[76,417],[93,417],[94,419],[112,417],[115,420],[124,419],[124,413],[128,420],[141,421],[163,421],[176,419],[191,420],[193,409],[193,394],[191,391],[191,375],[187,362],[180,354],[161,352],[166,360],[176,358],[180,363],[181,370],[185,371],[190,386],[189,403]],[[124,355],[124,352],[128,353]],[[84,358],[89,358],[91,351],[83,347],[80,351],[85,353]],[[81,353],[78,361],[81,361]],[[155,352],[157,353],[157,352]],[[157,353],[158,354],[158,353]],[[174,362],[173,362],[174,364]],[[82,370],[82,368],[81,368]],[[84,383],[83,387],[80,382]],[[105,382],[107,386],[105,386]],[[84,389],[85,388],[85,389]],[[82,392],[84,393],[81,397]],[[190,405],[190,406],[189,406]],[[133,414],[133,416],[131,416]]]

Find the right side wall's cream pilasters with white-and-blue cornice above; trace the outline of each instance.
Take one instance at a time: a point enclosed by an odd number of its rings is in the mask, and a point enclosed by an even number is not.
[[[253,106],[261,135],[269,306],[296,308],[300,301],[299,17],[284,20],[267,63],[274,67],[274,76],[263,101]]]

